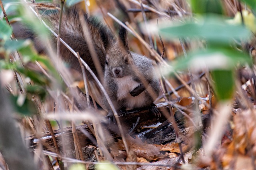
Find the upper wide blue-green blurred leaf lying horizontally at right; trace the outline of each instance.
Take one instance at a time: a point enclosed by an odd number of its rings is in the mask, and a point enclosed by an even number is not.
[[[206,17],[203,20],[187,22],[178,26],[160,25],[160,32],[166,39],[173,37],[204,38],[216,43],[230,43],[233,39],[249,39],[250,30],[242,25],[230,25],[226,21]]]

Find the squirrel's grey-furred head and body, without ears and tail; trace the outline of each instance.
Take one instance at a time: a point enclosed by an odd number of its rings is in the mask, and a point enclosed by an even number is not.
[[[120,109],[135,109],[140,107],[150,106],[156,97],[159,94],[159,85],[158,78],[156,76],[154,67],[152,65],[152,61],[145,56],[138,55],[136,53],[127,52],[124,46],[116,43],[112,45],[106,52],[107,57],[106,60],[108,64],[106,64],[105,68],[105,76],[104,76],[104,86],[112,100],[117,111]],[[125,59],[128,58],[128,63],[125,62]],[[122,69],[120,77],[116,77],[113,73],[113,68],[118,67]],[[132,79],[132,81],[130,81]],[[141,80],[144,79],[144,80]],[[122,85],[122,81],[130,86]],[[142,82],[146,82],[143,84],[145,90],[139,92],[137,96],[132,97],[129,92],[132,92],[137,86],[142,85]],[[122,89],[119,89],[122,88]],[[150,94],[149,88],[151,88],[153,94]],[[119,94],[118,94],[118,90]],[[122,94],[122,98],[118,98],[118,95]],[[131,102],[131,100],[138,100],[140,102]],[[111,110],[106,99],[104,99],[104,103],[108,110]]]

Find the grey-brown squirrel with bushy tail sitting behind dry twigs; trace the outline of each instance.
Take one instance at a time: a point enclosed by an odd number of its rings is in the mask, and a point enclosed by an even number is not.
[[[152,61],[145,56],[130,51],[127,31],[124,27],[120,26],[118,38],[116,38],[100,21],[97,21],[94,17],[88,17],[85,12],[82,12],[82,14],[88,25],[88,31],[92,37],[92,43],[104,74],[102,84],[116,111],[122,115],[126,113],[126,109],[147,107],[151,113],[159,115],[158,109],[153,104],[158,97],[160,88]],[[53,31],[58,31],[58,10],[50,11],[44,14],[42,18],[50,25]],[[17,38],[31,39],[34,41],[34,46],[38,53],[45,53],[46,47],[40,42],[32,28],[20,22],[13,23],[12,27]],[[65,9],[62,14],[60,37],[74,51],[79,52],[80,57],[99,78],[88,45],[84,39],[78,8]],[[51,35],[51,39],[56,45],[56,37]],[[72,53],[62,44],[60,46],[60,55],[72,68],[82,72],[78,59],[72,56]],[[87,75],[88,79],[92,80],[92,76],[88,72]],[[108,110],[108,117],[114,120],[113,112],[106,98],[104,96],[102,98],[102,104]]]

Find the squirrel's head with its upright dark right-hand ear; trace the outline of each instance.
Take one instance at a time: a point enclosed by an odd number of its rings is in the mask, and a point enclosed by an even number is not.
[[[105,43],[105,45],[105,74],[114,78],[122,78],[132,74],[134,61],[130,53],[126,29],[120,26],[118,41],[112,44]]]

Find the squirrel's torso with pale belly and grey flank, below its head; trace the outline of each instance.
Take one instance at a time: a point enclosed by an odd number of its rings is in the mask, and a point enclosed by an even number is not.
[[[117,103],[115,107],[118,110],[150,106],[155,100],[154,96],[157,96],[159,93],[158,79],[154,72],[152,61],[136,53],[131,53],[131,56],[133,61],[130,62],[133,62],[134,67],[137,69],[129,69],[128,75],[126,75],[127,73],[123,73],[124,76],[117,78],[108,73],[111,70],[107,71],[109,69],[106,68],[105,72],[105,87],[108,94],[110,94],[111,100],[116,101],[114,104]],[[127,71],[127,69],[121,70],[124,72]],[[112,70],[112,72],[114,71]],[[142,75],[142,78],[145,78],[146,83],[148,83],[149,86],[147,88],[145,88],[147,85],[143,85],[140,78],[136,76],[138,72]],[[148,92],[148,88],[150,87],[154,89],[155,94]]]

